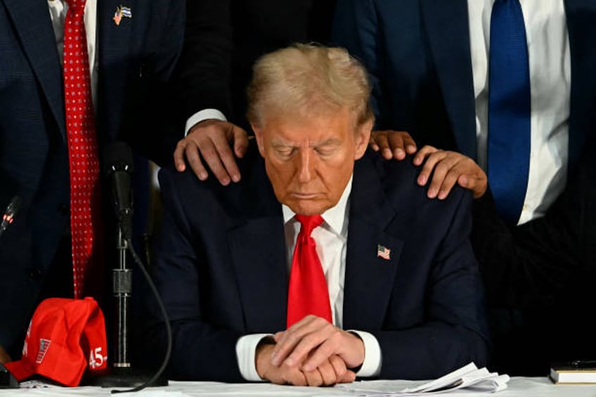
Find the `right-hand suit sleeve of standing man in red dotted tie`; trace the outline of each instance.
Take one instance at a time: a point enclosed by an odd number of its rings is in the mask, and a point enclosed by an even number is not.
[[[172,115],[178,112],[173,83],[183,47],[185,3],[154,1],[143,43],[138,44],[142,52],[129,56],[129,86],[119,123],[119,138],[162,167],[173,161],[176,143],[183,138]]]

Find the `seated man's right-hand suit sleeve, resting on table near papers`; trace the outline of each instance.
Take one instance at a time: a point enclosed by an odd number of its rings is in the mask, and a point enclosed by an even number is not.
[[[458,202],[427,280],[425,319],[405,330],[371,332],[381,346],[382,379],[433,379],[471,361],[487,363],[484,292],[469,242],[472,197],[454,196]]]

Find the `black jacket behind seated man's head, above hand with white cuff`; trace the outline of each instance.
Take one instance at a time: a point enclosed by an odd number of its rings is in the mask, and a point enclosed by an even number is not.
[[[248,128],[246,87],[259,56],[294,42],[327,42],[335,0],[188,1],[179,63],[181,122],[205,108]]]

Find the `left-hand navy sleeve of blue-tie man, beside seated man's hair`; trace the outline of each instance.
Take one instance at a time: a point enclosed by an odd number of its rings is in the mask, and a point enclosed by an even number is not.
[[[384,63],[380,25],[371,0],[338,0],[331,34],[332,44],[346,48],[363,63],[372,83],[370,97],[375,129],[384,128],[387,103],[384,98]]]

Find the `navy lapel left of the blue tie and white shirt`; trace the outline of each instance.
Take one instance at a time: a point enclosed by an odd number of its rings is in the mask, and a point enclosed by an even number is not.
[[[430,48],[458,148],[476,159],[476,109],[466,0],[422,0]]]

